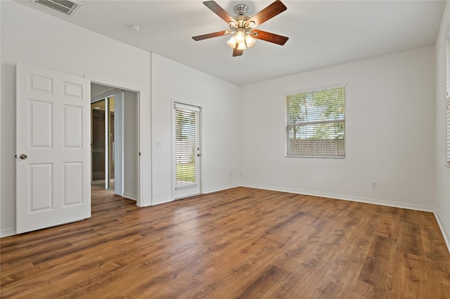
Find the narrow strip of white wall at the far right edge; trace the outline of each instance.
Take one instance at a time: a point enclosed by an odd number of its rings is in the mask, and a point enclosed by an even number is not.
[[[450,250],[450,168],[446,168],[446,34],[450,29],[447,1],[436,40],[435,166],[436,215]]]

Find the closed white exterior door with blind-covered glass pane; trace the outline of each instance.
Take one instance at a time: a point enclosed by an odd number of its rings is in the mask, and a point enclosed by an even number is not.
[[[200,107],[174,103],[172,197],[200,194]]]

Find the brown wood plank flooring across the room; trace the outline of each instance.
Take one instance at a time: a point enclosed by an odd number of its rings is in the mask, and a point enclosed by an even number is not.
[[[0,239],[1,298],[449,298],[432,213],[233,188]]]

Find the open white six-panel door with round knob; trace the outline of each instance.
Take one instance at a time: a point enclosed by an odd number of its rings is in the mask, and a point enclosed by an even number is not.
[[[16,67],[16,232],[91,217],[90,81]]]

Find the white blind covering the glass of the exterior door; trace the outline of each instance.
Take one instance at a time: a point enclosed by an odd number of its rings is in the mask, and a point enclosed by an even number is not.
[[[176,188],[198,183],[196,171],[200,140],[199,112],[175,106],[176,117]]]

